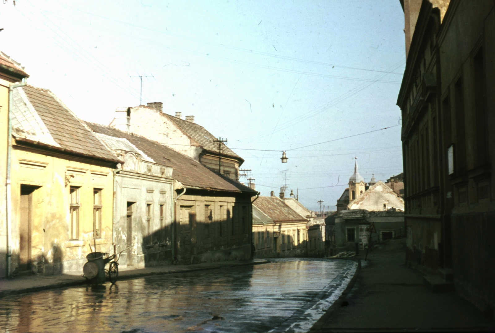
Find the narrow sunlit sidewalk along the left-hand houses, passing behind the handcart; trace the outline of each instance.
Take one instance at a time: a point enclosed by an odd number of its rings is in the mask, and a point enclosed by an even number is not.
[[[184,273],[203,270],[214,270],[218,268],[267,264],[264,259],[253,259],[251,261],[217,261],[195,265],[169,265],[155,266],[140,269],[119,270],[119,280],[137,277],[148,277],[151,275],[162,275],[172,273]],[[118,282],[117,282],[118,283]],[[0,279],[0,298],[12,294],[35,292],[46,289],[63,288],[86,284],[86,279],[81,275],[57,274],[49,276],[33,275],[27,277],[16,277],[13,279]]]

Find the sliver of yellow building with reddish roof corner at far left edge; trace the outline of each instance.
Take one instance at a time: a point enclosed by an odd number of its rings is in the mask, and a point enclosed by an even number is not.
[[[0,53],[0,277],[5,277],[8,258],[7,242],[7,146],[8,146],[8,90],[29,75],[19,63]],[[10,185],[8,185],[10,186]],[[8,198],[10,199],[10,198]]]

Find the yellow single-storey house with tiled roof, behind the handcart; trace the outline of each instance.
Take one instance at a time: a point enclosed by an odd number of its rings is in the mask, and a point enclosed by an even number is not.
[[[82,274],[90,244],[113,252],[119,161],[49,90],[11,100],[10,273]]]

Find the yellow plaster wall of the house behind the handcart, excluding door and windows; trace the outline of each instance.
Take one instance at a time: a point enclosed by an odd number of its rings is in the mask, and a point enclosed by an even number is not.
[[[67,176],[67,177],[66,177]],[[113,252],[113,173],[109,167],[12,149],[12,265],[19,256],[21,184],[40,186],[33,192],[33,270],[43,274],[82,274],[93,238],[93,189],[101,191],[101,237],[97,251]],[[66,182],[68,179],[68,182]],[[70,238],[70,186],[79,190],[79,239]]]

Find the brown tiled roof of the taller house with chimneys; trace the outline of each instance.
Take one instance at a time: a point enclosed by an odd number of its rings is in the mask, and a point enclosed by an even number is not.
[[[180,130],[186,134],[192,141],[196,142],[198,145],[202,146],[204,149],[218,153],[218,144],[214,143],[213,140],[218,140],[215,138],[213,134],[208,132],[203,126],[198,125],[197,123],[183,120],[178,117],[174,117],[173,115],[161,112],[163,116],[167,117],[170,121],[172,121]],[[244,160],[234,153],[229,147],[222,143],[222,155],[227,155],[234,157],[236,159],[240,159],[244,162]]]

